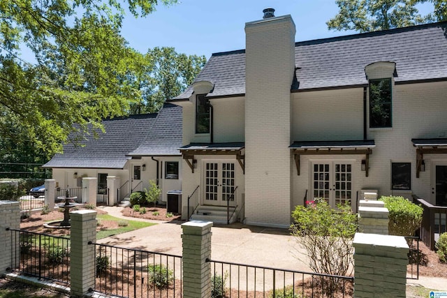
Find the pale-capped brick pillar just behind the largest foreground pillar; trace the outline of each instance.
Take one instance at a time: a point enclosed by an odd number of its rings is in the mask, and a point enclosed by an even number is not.
[[[388,235],[388,209],[384,202],[360,200],[358,207],[358,230],[362,233]]]

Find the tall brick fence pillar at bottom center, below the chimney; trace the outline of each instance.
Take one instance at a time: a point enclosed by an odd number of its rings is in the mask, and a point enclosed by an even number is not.
[[[211,297],[211,222],[182,224],[183,297]]]

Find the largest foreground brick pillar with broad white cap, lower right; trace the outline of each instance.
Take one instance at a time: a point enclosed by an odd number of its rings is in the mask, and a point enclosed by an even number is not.
[[[356,233],[354,297],[405,297],[409,247],[402,236]]]

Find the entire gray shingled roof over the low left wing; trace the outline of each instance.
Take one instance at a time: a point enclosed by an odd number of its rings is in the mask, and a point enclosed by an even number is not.
[[[173,121],[173,127],[169,128],[173,135],[163,139],[161,130],[169,126],[169,121]],[[175,147],[179,154],[178,148],[182,143],[182,107],[165,104],[159,114],[137,114],[106,119],[102,123],[105,133],[98,132],[97,138],[87,135],[87,140],[82,142],[85,145],[83,147],[65,144],[64,153],[55,154],[43,167],[122,169],[130,158],[128,154],[143,142],[154,145],[154,150],[158,152],[171,152],[172,147]],[[149,146],[145,148],[151,150]]]

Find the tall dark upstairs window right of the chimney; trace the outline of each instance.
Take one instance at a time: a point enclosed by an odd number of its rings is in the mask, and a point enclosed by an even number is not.
[[[392,127],[391,79],[369,80],[369,127]]]

